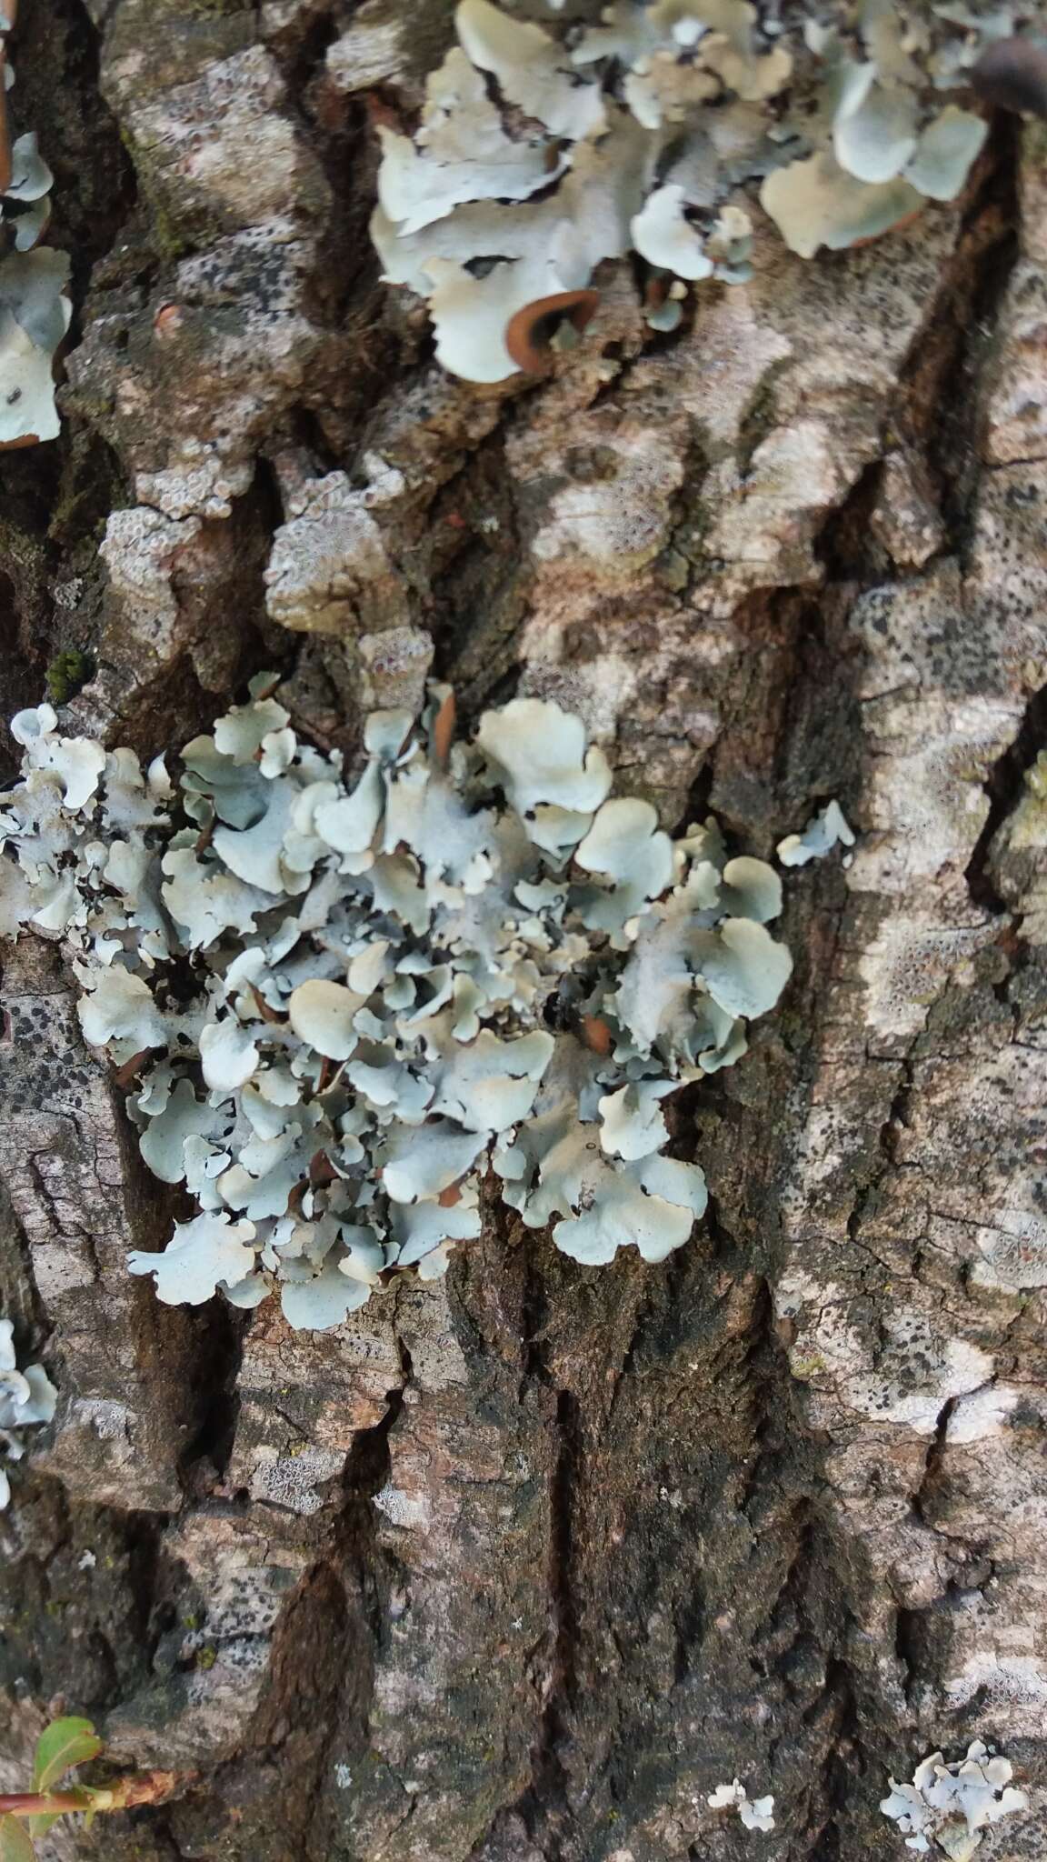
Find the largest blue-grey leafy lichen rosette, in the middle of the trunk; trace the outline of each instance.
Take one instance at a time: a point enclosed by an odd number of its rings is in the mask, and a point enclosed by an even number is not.
[[[488,1166],[574,1259],[665,1259],[706,1207],[665,1100],[788,981],[777,873],[613,799],[555,704],[466,743],[434,687],[421,721],[369,719],[347,788],[272,687],[184,747],[181,793],[47,704],[13,721],[0,935],[65,937],[142,1154],[197,1205],[132,1272],[332,1326],[391,1270],[443,1272]]]

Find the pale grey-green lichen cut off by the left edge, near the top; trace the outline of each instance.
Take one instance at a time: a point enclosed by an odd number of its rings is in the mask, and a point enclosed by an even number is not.
[[[67,328],[69,259],[39,240],[50,220],[52,173],[30,130],[9,142],[13,80],[6,34],[13,0],[0,7],[0,451],[54,439],[54,354]]]

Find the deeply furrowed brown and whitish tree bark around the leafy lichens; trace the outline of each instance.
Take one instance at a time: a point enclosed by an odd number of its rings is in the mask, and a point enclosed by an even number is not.
[[[170,1311],[52,948],[6,966],[4,1309],[61,1387],[2,1519],[0,1771],[47,1702],[162,1810],[108,1862],[902,1856],[887,1771],[1006,1743],[1047,1855],[1047,142],[857,253],[628,264],[553,380],[479,393],[376,281],[369,117],[445,0],[24,0],[75,261],[58,443],[0,462],[4,711],[155,754],[263,665],[322,741],[417,693],[579,709],[671,825],[766,855],[797,972],[674,1108],[712,1216],[585,1270],[492,1205],[339,1331]],[[734,1774],[773,1834],[706,1806]]]

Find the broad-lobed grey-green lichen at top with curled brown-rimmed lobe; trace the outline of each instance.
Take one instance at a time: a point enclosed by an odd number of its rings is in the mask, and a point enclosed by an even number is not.
[[[978,0],[613,0],[555,28],[460,0],[455,20],[414,134],[378,130],[371,231],[473,382],[510,376],[512,318],[602,259],[646,261],[661,330],[680,281],[749,277],[745,188],[805,257],[954,199],[986,121],[941,93],[1012,30]]]

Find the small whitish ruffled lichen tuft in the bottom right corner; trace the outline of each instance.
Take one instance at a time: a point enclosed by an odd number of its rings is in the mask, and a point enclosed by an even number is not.
[[[933,1849],[950,1862],[969,1862],[982,1830],[1028,1806],[1012,1778],[1010,1760],[974,1739],[961,1760],[946,1763],[941,1752],[931,1752],[917,1765],[911,1784],[891,1778],[891,1795],[879,1808],[894,1819],[907,1849]]]

